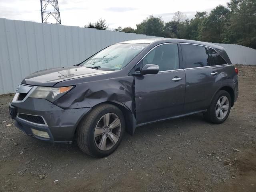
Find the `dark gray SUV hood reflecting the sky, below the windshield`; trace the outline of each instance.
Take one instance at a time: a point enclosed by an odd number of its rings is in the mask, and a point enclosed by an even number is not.
[[[69,66],[52,68],[34,72],[29,76],[26,76],[22,80],[22,84],[36,85],[36,86],[54,86],[58,82],[64,80],[92,76],[98,74],[110,73],[112,71],[102,71],[97,69],[91,69],[84,66]]]

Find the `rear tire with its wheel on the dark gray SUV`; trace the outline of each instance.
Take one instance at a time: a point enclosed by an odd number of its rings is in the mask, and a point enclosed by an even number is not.
[[[224,105],[223,105],[222,102],[225,99],[227,101],[224,102]],[[219,100],[222,102],[218,103]],[[218,109],[220,109],[222,111],[222,114],[221,114],[221,112],[218,113]],[[204,119],[207,120],[208,122],[211,122],[214,124],[221,124],[228,118],[230,109],[231,109],[230,94],[224,90],[220,90],[216,93],[216,95],[212,99],[212,103],[211,103],[210,107],[208,108],[208,111],[204,113]]]

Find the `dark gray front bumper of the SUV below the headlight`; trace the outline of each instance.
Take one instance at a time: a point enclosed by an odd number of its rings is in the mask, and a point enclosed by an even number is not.
[[[26,98],[24,102],[12,102],[10,104],[11,115],[16,120],[15,125],[34,138],[54,143],[71,143],[74,133],[81,118],[86,115],[91,108],[62,109],[45,99]],[[20,118],[17,114],[29,114],[40,116],[45,124],[41,125]],[[45,131],[50,138],[43,138],[33,134],[31,129]]]

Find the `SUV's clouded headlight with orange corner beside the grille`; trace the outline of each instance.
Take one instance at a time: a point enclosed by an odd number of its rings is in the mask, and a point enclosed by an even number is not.
[[[68,91],[70,91],[74,86],[69,87],[37,87],[28,97],[47,99],[50,102],[54,102],[56,99],[60,98]]]

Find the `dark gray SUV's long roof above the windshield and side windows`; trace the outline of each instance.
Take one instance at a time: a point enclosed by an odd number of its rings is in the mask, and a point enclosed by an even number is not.
[[[175,42],[175,43],[197,44],[197,45],[203,45],[203,46],[208,46],[208,47],[224,50],[223,47],[212,44],[212,43],[208,43],[208,42],[187,40],[187,39],[173,39],[173,38],[136,39],[136,40],[129,40],[129,41],[119,42],[117,44],[124,44],[124,43],[145,43],[145,44],[152,44],[152,43],[155,44],[155,43],[157,43],[157,44],[161,44],[161,43],[169,43],[169,42],[170,43]]]

